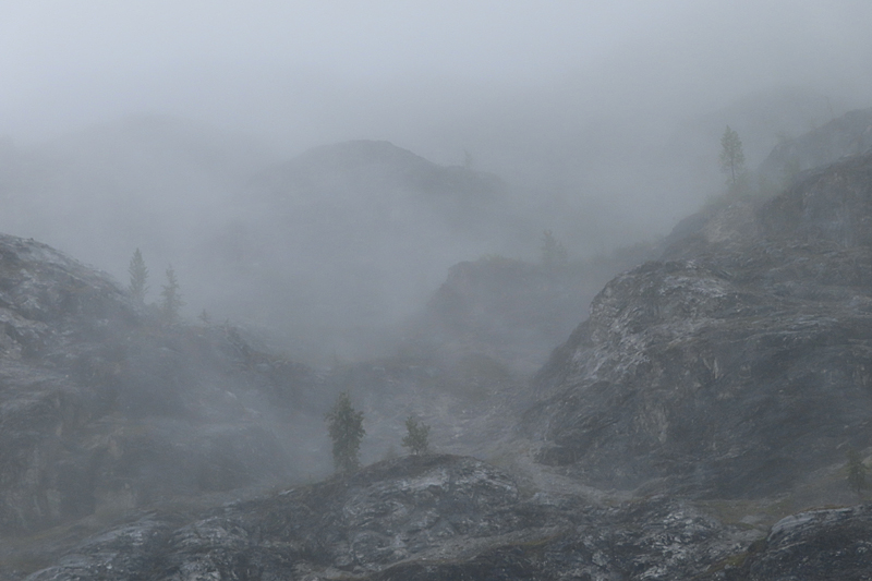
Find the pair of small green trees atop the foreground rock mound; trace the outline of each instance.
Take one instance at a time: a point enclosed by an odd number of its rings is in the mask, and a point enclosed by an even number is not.
[[[337,472],[353,472],[361,465],[360,449],[366,429],[363,412],[355,410],[347,391],[339,394],[334,407],[324,415],[332,440],[334,465]],[[413,455],[426,453],[429,449],[429,426],[414,416],[405,420],[407,435],[402,445]]]

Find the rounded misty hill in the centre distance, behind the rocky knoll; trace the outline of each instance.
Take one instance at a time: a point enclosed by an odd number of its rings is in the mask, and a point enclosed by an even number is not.
[[[497,177],[387,142],[318,147],[276,165],[252,179],[237,209],[199,249],[196,271],[219,281],[208,293],[223,312],[295,329],[294,349],[322,361],[389,352],[398,324],[452,264],[535,249],[541,234]]]

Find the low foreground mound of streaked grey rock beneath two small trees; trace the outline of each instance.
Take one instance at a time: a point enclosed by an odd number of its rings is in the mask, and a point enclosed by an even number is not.
[[[615,508],[524,498],[483,462],[407,457],[183,526],[146,517],[28,580],[687,579],[748,542],[665,498]]]

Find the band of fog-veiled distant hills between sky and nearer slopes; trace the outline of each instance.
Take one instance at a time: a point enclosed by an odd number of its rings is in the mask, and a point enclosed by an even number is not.
[[[754,166],[773,133],[801,133],[832,107],[783,90],[678,126],[604,118],[552,143],[518,141],[513,168],[482,156],[508,179],[479,169],[475,154],[440,166],[354,141],[289,158],[249,135],[134,116],[36,148],[8,143],[0,228],[122,281],[140,247],[149,300],[172,264],[189,316],[206,308],[269,327],[313,361],[359,359],[389,352],[399,324],[452,265],[486,255],[535,262],[544,230],[573,259],[652,240],[719,190],[724,123],[742,130]]]

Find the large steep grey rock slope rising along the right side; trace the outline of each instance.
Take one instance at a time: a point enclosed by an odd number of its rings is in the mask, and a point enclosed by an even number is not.
[[[544,463],[600,486],[785,492],[870,440],[872,156],[619,276],[537,378]],[[657,481],[655,483],[655,481]]]

